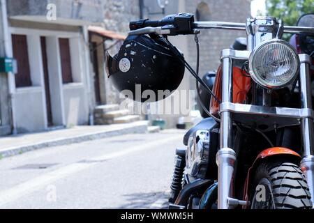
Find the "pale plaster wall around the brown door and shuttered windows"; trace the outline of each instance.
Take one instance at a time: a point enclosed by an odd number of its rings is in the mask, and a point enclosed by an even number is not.
[[[40,36],[46,37],[50,96],[54,125],[80,125],[89,121],[87,85],[84,83],[84,40],[80,33],[10,27],[11,34],[27,35],[29,65],[33,86],[15,88],[14,100],[18,132],[46,130],[47,109],[40,47]],[[73,82],[62,83],[59,38],[70,38]]]

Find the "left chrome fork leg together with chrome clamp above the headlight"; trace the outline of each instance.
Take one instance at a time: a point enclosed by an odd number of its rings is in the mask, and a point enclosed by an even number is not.
[[[223,50],[223,76],[222,76],[222,104],[232,103],[232,59],[248,59],[253,49],[265,40],[281,38],[283,24],[277,22],[274,17],[246,20],[246,33],[248,40],[248,51],[237,52]],[[238,55],[236,55],[238,54]],[[218,208],[229,209],[234,206],[246,205],[246,201],[233,198],[234,162],[237,155],[232,149],[232,116],[230,111],[221,109],[220,105],[220,150],[216,155],[218,166]]]

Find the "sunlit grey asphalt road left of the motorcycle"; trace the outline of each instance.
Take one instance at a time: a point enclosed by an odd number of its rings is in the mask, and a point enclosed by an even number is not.
[[[128,134],[4,158],[0,208],[167,208],[183,134]]]

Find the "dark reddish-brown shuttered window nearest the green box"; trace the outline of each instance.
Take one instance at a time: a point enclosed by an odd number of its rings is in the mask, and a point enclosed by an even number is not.
[[[17,87],[31,86],[31,72],[29,69],[29,52],[27,49],[27,36],[12,35],[13,57],[17,60],[17,74],[15,85]]]

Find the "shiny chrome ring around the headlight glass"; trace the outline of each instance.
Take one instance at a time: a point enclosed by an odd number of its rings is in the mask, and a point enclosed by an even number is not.
[[[261,49],[262,47],[264,47],[264,45],[269,45],[269,44],[272,44],[272,43],[278,43],[278,44],[282,44],[282,45],[285,45],[286,47],[289,47],[290,49],[292,49],[292,52],[294,52],[294,56],[296,58],[296,61],[297,61],[297,66],[296,66],[296,70],[294,72],[294,77],[291,78],[288,82],[285,82],[285,84],[282,84],[280,86],[276,86],[276,85],[271,85],[271,84],[266,84],[265,82],[263,82],[259,75],[255,75],[255,72],[254,72],[254,69],[253,69],[253,59],[255,58],[255,55],[256,55],[256,52]],[[253,79],[253,81],[262,86],[263,88],[265,89],[283,89],[285,86],[288,86],[289,84],[291,84],[294,79],[296,79],[297,77],[297,73],[299,71],[299,67],[300,67],[300,59],[299,59],[299,55],[297,53],[297,50],[294,49],[294,47],[292,45],[290,45],[290,43],[287,43],[287,41],[285,40],[281,40],[281,39],[271,39],[271,40],[266,40],[262,43],[260,43],[260,45],[257,45],[253,51],[251,52],[250,56],[249,56],[249,59],[248,59],[249,63],[248,63],[248,66],[249,66],[249,72],[250,72],[250,75]]]

